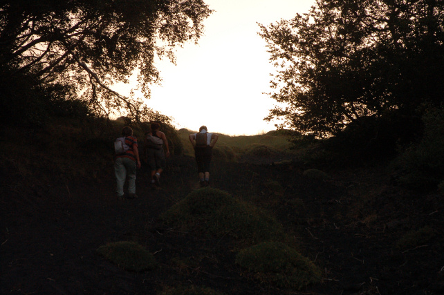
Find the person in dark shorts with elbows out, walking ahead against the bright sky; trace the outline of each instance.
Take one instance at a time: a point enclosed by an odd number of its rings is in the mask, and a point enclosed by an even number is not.
[[[207,187],[210,184],[212,149],[219,139],[219,135],[208,133],[207,127],[201,126],[198,133],[190,134],[188,138],[194,148],[199,184],[201,187]]]

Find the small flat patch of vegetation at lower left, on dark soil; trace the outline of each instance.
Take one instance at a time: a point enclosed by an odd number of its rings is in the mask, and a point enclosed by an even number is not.
[[[154,256],[136,242],[111,242],[97,251],[107,260],[131,272],[152,270],[158,265]]]

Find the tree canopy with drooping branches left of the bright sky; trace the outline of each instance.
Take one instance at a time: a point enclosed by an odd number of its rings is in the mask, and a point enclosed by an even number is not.
[[[62,89],[96,115],[124,108],[138,119],[145,99],[112,90],[136,73],[138,88],[160,81],[155,57],[195,41],[211,10],[202,0],[0,0],[0,68],[35,87]]]

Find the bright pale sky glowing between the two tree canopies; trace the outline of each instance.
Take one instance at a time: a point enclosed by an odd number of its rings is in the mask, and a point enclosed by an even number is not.
[[[149,107],[174,117],[177,127],[228,135],[274,130],[263,118],[275,105],[270,92],[266,41],[257,23],[268,26],[308,12],[315,0],[205,0],[215,10],[198,44],[178,48],[176,66],[157,64],[163,79],[151,89]]]

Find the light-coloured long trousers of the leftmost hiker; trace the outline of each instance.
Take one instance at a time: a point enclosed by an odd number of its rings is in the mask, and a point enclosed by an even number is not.
[[[136,193],[136,162],[129,158],[117,158],[114,162],[115,178],[117,180],[116,193],[123,196],[123,186],[128,178],[128,193]]]

